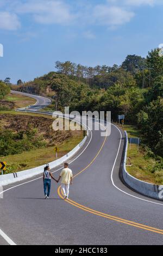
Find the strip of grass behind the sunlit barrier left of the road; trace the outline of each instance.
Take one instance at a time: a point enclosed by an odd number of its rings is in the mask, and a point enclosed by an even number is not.
[[[58,145],[58,158],[66,155],[69,151],[76,147],[76,145],[78,145],[82,139],[83,134],[81,132],[80,135],[78,133],[78,136],[74,136],[64,143]],[[22,154],[1,157],[1,161],[7,162],[8,164],[7,172],[5,172],[6,174],[41,166],[54,160],[56,160],[54,147],[36,149],[24,152]]]

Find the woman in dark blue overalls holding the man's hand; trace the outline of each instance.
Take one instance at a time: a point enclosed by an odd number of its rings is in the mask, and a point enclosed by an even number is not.
[[[49,198],[49,194],[51,192],[51,178],[55,180],[52,173],[50,172],[49,166],[46,166],[43,172],[43,188],[44,188],[45,199]],[[57,180],[55,181],[58,182]]]

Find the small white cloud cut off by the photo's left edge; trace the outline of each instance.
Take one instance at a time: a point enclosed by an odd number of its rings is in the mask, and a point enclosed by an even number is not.
[[[0,29],[14,31],[20,28],[20,21],[16,14],[11,14],[8,11],[0,11]]]

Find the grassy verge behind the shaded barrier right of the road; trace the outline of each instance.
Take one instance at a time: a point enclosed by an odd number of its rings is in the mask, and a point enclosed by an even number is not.
[[[126,124],[121,129],[126,130],[129,138],[140,138],[142,137],[141,132],[134,125]],[[142,145],[137,149],[137,145],[128,143],[128,154],[127,154],[127,171],[130,175],[134,176],[139,180],[143,180],[152,184],[162,185],[163,184],[163,170],[153,171],[156,160],[153,157],[147,156],[147,151]]]

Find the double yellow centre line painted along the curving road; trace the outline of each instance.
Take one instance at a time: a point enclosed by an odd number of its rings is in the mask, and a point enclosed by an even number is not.
[[[107,137],[105,137],[104,142],[103,142],[101,148],[99,149],[97,155],[93,158],[93,160],[83,170],[81,170],[79,173],[77,173],[73,178],[78,176],[80,173],[84,172],[84,170],[86,170],[96,160],[97,156],[99,155],[99,153],[101,153],[101,150],[104,147],[104,144],[106,142],[106,138]],[[62,192],[61,192],[61,186],[58,187],[58,194],[59,194],[59,197],[61,199],[64,199],[64,197],[62,196]],[[118,217],[113,216],[113,215],[104,214],[101,211],[96,211],[96,210],[88,208],[88,207],[86,207],[86,206],[84,206],[82,204],[78,204],[77,202],[74,202],[71,199],[66,199],[65,202],[68,203],[68,204],[71,204],[71,205],[73,205],[73,206],[75,206],[75,207],[77,207],[79,209],[82,209],[83,211],[89,212],[90,214],[101,216],[103,218],[107,218],[107,219],[112,220],[112,221],[121,222],[121,223],[124,223],[124,224],[127,224],[127,225],[131,225],[131,226],[136,227],[136,228],[141,228],[141,229],[144,229],[144,230],[148,230],[148,231],[151,231],[151,232],[163,235],[163,230],[162,229],[149,227],[148,225],[143,225],[143,224],[136,223],[136,222],[133,222],[133,221],[128,221],[128,220],[125,220],[123,218],[118,218]]]

